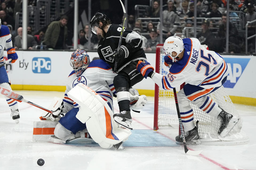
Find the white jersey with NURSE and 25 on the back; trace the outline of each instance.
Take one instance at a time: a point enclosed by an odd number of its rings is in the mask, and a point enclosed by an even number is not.
[[[205,89],[219,87],[230,67],[216,52],[207,50],[196,38],[183,39],[184,55],[169,69],[167,75],[154,74],[152,79],[165,90],[183,82]]]

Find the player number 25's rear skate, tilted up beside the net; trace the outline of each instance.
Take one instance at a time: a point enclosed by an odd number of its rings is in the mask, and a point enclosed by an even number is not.
[[[239,118],[234,117],[232,114],[229,114],[222,109],[221,113],[218,115],[218,120],[220,120],[218,134],[221,137],[225,137],[229,131],[233,129],[233,127],[237,124]]]

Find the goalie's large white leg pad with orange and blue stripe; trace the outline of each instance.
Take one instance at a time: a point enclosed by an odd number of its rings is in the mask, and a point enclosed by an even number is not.
[[[86,85],[79,83],[68,92],[68,96],[80,105],[76,117],[86,122],[92,139],[102,148],[110,148],[131,134],[129,129],[119,128],[106,101]]]

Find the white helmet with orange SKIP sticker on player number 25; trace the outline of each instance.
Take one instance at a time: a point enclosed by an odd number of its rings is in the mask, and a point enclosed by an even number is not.
[[[168,37],[165,40],[165,43],[163,44],[163,51],[165,52],[165,55],[170,56],[173,59],[176,58],[184,49],[183,41],[178,36],[171,36]],[[172,52],[176,52],[177,55],[175,57],[171,56]]]

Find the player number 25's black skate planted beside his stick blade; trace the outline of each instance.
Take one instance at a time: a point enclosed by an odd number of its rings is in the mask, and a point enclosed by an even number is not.
[[[198,124],[198,121],[197,121]],[[185,131],[184,132],[185,140],[187,144],[191,145],[198,145],[201,142],[199,141],[199,134],[198,134],[198,125],[194,127],[194,129]],[[181,135],[176,136],[175,138],[177,144],[182,144],[183,140],[181,138]]]

